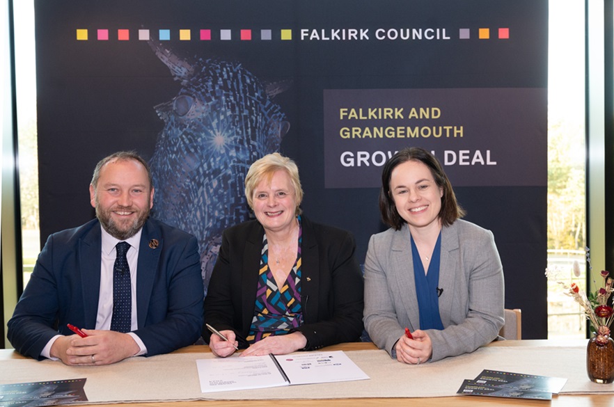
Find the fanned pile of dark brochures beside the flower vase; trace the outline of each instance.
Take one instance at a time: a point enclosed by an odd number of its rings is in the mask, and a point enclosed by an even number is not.
[[[566,378],[485,369],[475,379],[463,381],[457,393],[551,400],[552,394],[558,394],[566,382]]]

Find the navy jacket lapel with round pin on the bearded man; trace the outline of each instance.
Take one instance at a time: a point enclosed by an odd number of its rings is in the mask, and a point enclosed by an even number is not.
[[[152,239],[157,240],[157,246],[150,247]],[[150,220],[146,221],[141,233],[139,260],[136,266],[136,320],[139,328],[145,326],[148,305],[156,274],[159,273],[158,263],[163,248],[162,232],[155,223]]]

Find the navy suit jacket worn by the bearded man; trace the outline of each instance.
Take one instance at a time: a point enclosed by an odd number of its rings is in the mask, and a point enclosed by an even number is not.
[[[153,239],[157,246],[150,245]],[[41,359],[40,352],[54,335],[72,335],[66,324],[95,328],[101,250],[97,219],[49,236],[8,321],[8,340],[19,353]],[[198,340],[203,292],[196,238],[148,219],[136,269],[139,328],[134,331],[147,347],[147,356]]]

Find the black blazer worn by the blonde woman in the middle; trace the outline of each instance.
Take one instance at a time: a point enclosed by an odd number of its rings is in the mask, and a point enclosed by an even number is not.
[[[363,277],[354,259],[352,234],[301,216],[301,305],[304,324],[294,330],[307,338],[304,350],[359,340],[363,331]],[[239,347],[253,319],[258,269],[265,230],[258,221],[228,228],[215,263],[207,296],[205,323],[233,330]],[[203,337],[211,333],[203,326]]]

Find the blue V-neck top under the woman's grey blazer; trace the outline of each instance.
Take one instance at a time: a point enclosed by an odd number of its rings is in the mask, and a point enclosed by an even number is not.
[[[411,257],[414,260],[414,280],[416,281],[416,296],[418,296],[418,312],[420,312],[420,329],[443,330],[439,316],[439,257],[441,257],[441,232],[433,250],[429,272],[425,274],[420,253],[411,237]]]

